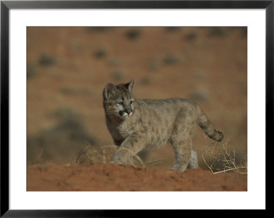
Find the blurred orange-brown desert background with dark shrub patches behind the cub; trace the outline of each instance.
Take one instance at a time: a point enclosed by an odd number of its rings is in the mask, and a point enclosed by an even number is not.
[[[103,87],[132,78],[136,98],[194,100],[247,149],[247,27],[27,27],[27,163],[113,145]],[[193,145],[205,167],[200,128]],[[167,144],[142,159],[172,167],[174,152]]]

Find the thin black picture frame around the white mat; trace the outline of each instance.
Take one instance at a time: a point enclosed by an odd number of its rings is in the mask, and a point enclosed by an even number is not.
[[[1,213],[2,217],[132,217],[143,210],[10,210],[9,207],[9,13],[11,9],[265,9],[266,10],[266,154],[273,144],[274,1],[1,1]],[[264,146],[264,145],[262,145]],[[269,159],[266,159],[266,162]],[[266,164],[266,163],[265,163]],[[266,164],[267,171],[267,164]],[[266,192],[267,193],[267,192]],[[267,209],[266,203],[266,209]],[[200,210],[201,211],[201,210]],[[172,213],[188,213],[173,210]],[[210,211],[204,213],[210,213]],[[149,210],[146,216],[170,211]]]

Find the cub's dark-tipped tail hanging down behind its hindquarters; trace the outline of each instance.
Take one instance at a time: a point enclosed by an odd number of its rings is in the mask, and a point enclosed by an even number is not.
[[[206,113],[198,106],[198,124],[203,129],[203,131],[213,139],[214,141],[222,141],[223,140],[223,133],[220,131],[216,131],[212,122],[208,120]]]

